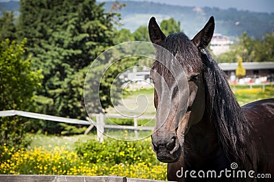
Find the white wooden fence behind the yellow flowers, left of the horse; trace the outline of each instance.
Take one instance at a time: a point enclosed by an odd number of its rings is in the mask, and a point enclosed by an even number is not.
[[[91,118],[87,118],[87,120],[77,120],[77,119],[71,119],[71,118],[63,118],[59,116],[50,116],[46,114],[38,114],[34,112],[23,112],[23,111],[17,111],[17,110],[8,110],[8,111],[1,111],[0,117],[3,116],[23,116],[27,118],[36,118],[41,120],[51,120],[55,122],[66,122],[71,124],[79,124],[79,125],[90,125],[88,129],[86,129],[85,134],[87,134],[93,127],[97,127],[97,140],[100,142],[103,142],[103,132],[105,128],[108,129],[123,129],[123,130],[134,130],[134,133],[136,135],[136,138],[138,138],[138,131],[140,130],[147,130],[151,131],[153,130],[153,127],[143,127],[138,126],[138,119],[153,119],[154,116],[138,116],[134,117],[134,126],[125,126],[125,125],[105,125],[105,118],[132,118],[127,116],[121,116],[120,114],[92,114],[92,116],[95,116],[96,122],[92,120]]]

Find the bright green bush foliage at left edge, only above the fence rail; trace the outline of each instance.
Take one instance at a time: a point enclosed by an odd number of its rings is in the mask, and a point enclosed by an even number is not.
[[[27,109],[41,86],[41,70],[31,70],[31,57],[24,58],[26,39],[0,41],[0,110]]]

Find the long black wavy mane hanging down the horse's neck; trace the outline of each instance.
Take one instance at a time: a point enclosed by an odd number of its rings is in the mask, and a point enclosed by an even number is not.
[[[249,138],[251,125],[236,101],[225,73],[208,50],[201,50],[201,59],[205,64],[203,81],[210,120],[214,122],[219,141],[229,160],[245,168],[245,161],[250,160],[247,155],[247,145],[251,144]]]

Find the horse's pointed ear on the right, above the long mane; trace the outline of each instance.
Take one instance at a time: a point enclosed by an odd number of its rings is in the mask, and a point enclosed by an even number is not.
[[[205,27],[203,27],[203,29],[201,29],[201,31],[199,31],[199,33],[192,39],[192,42],[198,47],[198,49],[203,49],[208,46],[214,33],[214,27],[214,17],[211,16]]]

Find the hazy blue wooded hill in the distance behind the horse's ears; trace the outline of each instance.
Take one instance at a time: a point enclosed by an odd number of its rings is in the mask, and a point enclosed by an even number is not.
[[[113,1],[105,3],[105,10],[109,11]],[[182,29],[192,38],[199,29],[214,16],[216,21],[216,33],[225,36],[240,36],[247,32],[248,36],[262,38],[264,34],[274,31],[274,13],[249,12],[230,8],[195,8],[179,5],[167,5],[148,1],[119,1],[126,6],[117,11],[121,13],[123,27],[135,31],[140,25],[147,25],[149,18],[155,16],[158,23],[163,19],[175,18],[181,22]],[[0,3],[0,10],[14,10],[18,16],[18,1]],[[0,14],[1,15],[1,14]]]

